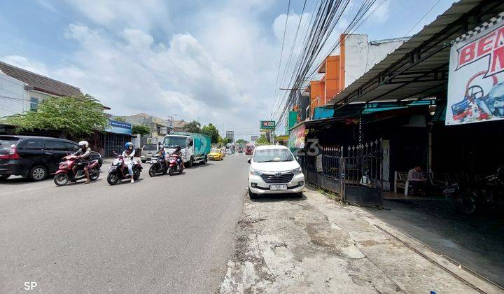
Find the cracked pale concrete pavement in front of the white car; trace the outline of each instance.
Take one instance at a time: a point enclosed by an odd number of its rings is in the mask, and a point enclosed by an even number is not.
[[[246,197],[221,293],[503,293],[359,207],[316,190]]]

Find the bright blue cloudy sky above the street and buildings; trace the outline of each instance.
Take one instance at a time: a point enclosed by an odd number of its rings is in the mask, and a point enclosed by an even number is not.
[[[278,99],[284,27],[281,73],[300,18],[292,60],[317,2],[301,17],[304,1],[291,0],[286,26],[288,0],[0,0],[0,59],[76,85],[115,115],[176,115],[249,139]],[[386,0],[357,32],[411,35],[452,2]]]

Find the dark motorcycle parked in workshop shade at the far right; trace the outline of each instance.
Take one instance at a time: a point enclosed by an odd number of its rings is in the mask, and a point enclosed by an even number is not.
[[[477,181],[454,184],[452,188],[455,209],[461,214],[492,209],[504,202],[504,168],[499,167],[496,174]]]

